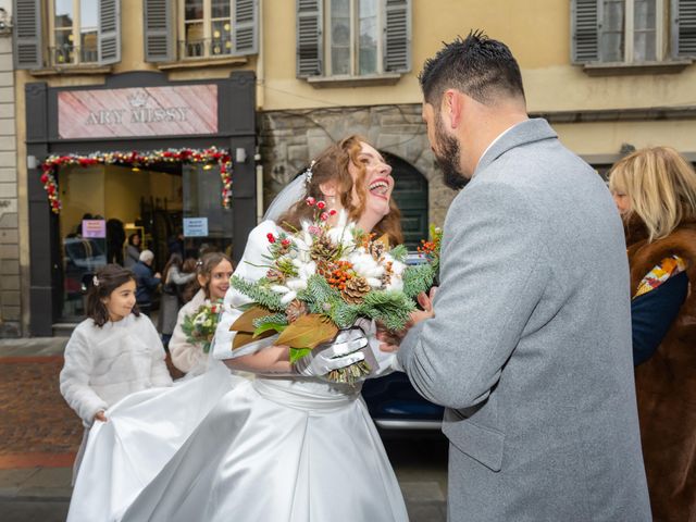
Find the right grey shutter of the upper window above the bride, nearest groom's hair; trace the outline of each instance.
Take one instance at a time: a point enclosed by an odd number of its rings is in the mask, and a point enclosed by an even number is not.
[[[411,70],[411,0],[386,0],[384,16],[384,72]]]

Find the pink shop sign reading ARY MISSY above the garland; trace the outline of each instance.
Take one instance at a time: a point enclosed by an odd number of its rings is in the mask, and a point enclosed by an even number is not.
[[[58,94],[58,135],[63,139],[215,133],[214,84]]]

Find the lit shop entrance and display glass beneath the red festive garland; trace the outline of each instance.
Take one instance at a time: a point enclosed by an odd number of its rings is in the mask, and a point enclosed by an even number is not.
[[[184,259],[231,253],[233,216],[221,204],[217,164],[71,165],[57,174],[63,322],[84,319],[85,290],[107,263],[130,266],[139,251],[149,249],[157,272],[175,252]],[[185,231],[187,220],[199,226]]]

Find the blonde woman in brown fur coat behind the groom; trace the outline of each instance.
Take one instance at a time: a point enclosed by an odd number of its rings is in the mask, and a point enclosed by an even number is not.
[[[670,147],[611,170],[631,271],[641,437],[652,515],[696,518],[696,172]]]

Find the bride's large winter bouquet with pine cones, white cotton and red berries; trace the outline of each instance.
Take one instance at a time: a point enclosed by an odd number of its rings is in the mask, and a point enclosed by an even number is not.
[[[306,202],[314,208],[311,222],[266,236],[265,277],[232,278],[233,288],[253,301],[232,325],[237,332],[233,349],[278,333],[276,344],[289,346],[295,362],[359,320],[401,330],[415,309],[405,282],[415,289],[415,279],[422,277],[408,276],[406,247],[389,249],[385,239],[361,232],[344,213],[338,225],[330,226],[328,217],[336,211],[313,198]],[[328,380],[352,383],[370,372],[369,363],[361,361],[332,372]]]

